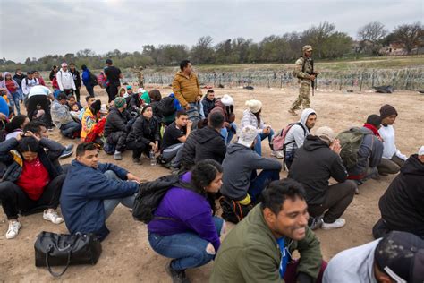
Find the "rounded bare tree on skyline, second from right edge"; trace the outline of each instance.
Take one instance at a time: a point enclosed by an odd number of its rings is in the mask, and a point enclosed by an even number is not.
[[[358,30],[358,39],[360,39],[362,49],[377,55],[381,47],[380,41],[385,39],[387,32],[385,25],[378,21],[369,22],[361,27]]]

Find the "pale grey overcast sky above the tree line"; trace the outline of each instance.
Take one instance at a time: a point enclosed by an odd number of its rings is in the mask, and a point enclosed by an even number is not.
[[[243,37],[259,42],[266,36],[302,31],[321,21],[356,38],[369,21],[388,30],[423,21],[423,0],[319,1],[35,1],[0,0],[0,57],[133,52],[146,44],[186,44],[210,35],[216,44]]]

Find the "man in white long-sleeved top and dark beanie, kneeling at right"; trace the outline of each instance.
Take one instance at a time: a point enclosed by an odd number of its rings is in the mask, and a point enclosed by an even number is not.
[[[382,176],[397,174],[407,159],[407,157],[396,148],[394,140],[393,124],[397,118],[397,111],[393,106],[386,104],[380,108],[380,117],[381,127],[378,129],[378,133],[383,140],[384,149],[381,162],[377,165],[378,173]]]

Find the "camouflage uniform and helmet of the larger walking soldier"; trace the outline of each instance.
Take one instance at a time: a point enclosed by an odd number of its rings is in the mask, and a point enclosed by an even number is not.
[[[310,46],[303,47],[303,51],[307,51],[308,49],[312,49]],[[304,72],[302,72],[303,63],[306,60],[305,63],[305,69]],[[295,63],[295,67],[293,70],[293,76],[299,79],[300,88],[299,88],[299,96],[296,100],[294,100],[292,107],[290,107],[290,110],[294,111],[297,109],[300,109],[300,106],[305,108],[310,108],[310,75],[308,73],[312,73],[312,64],[310,63],[310,58],[307,58],[305,56],[301,56],[299,59],[297,59]]]

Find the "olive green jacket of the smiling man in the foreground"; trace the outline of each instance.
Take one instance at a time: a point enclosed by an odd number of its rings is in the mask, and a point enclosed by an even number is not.
[[[292,254],[301,253],[297,272],[318,278],[321,268],[321,249],[318,238],[307,227],[306,236],[297,242],[286,239]],[[281,253],[271,230],[267,227],[260,204],[225,237],[216,254],[210,283],[225,282],[284,282],[280,277]]]

